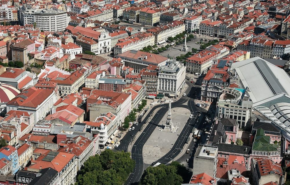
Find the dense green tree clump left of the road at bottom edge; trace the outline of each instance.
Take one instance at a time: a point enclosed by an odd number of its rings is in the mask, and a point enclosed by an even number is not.
[[[122,185],[134,166],[130,153],[104,150],[84,163],[75,185]]]

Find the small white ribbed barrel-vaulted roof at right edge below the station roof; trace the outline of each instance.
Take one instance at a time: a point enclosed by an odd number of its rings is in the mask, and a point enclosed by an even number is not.
[[[277,103],[270,110],[279,121],[287,127],[290,126],[290,103]]]

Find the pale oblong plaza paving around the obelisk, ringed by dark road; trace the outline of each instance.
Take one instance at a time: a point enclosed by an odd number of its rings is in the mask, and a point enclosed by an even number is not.
[[[167,113],[164,115],[159,125],[166,123]],[[143,147],[143,160],[146,164],[151,164],[170,151],[182,131],[186,121],[190,116],[190,111],[186,108],[171,109],[171,118],[174,126],[178,126],[177,132],[165,132],[161,127],[156,127]]]

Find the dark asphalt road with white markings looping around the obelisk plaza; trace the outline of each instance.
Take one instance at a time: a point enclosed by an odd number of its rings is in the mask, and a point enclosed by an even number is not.
[[[173,102],[171,104],[172,108],[184,107],[184,108],[189,109],[192,113],[202,110],[199,107],[196,107],[194,105],[193,97],[195,97],[195,87],[194,87],[195,85],[190,83],[187,80],[186,80],[186,84],[189,86],[189,88],[186,89],[185,93],[191,94],[191,96],[190,97],[182,96],[180,100]],[[199,91],[200,91],[200,88],[197,88],[196,93],[199,93]],[[148,120],[148,118],[154,112],[154,110],[159,107],[160,109],[153,115],[153,118],[151,120]],[[142,121],[141,125],[146,123],[146,121],[150,121],[150,122],[145,127],[145,129],[141,131],[142,133],[138,136],[138,138],[133,141],[134,144],[130,152],[132,155],[132,159],[136,161],[136,166],[133,170],[133,173],[131,173],[131,175],[128,177],[128,181],[126,184],[137,184],[137,182],[140,180],[142,176],[144,169],[146,169],[146,167],[150,165],[150,164],[146,164],[146,166],[144,165],[143,155],[142,155],[143,146],[148,140],[148,138],[150,137],[150,135],[153,133],[154,129],[157,126],[160,126],[159,122],[161,121],[162,117],[166,114],[167,111],[168,111],[168,103],[155,106],[150,110],[149,114],[147,114],[147,116]],[[183,151],[180,148],[184,147],[185,139],[189,137],[189,134],[191,133],[195,125],[197,117],[198,117],[197,114],[195,114],[195,116],[191,119],[191,121],[188,121],[186,123],[186,125],[184,126],[182,130],[182,134],[180,134],[180,136],[174,143],[172,149],[166,155],[164,155],[157,161],[160,161],[163,164],[168,164],[169,161],[174,159]],[[136,126],[135,130],[131,130],[130,132],[128,132],[129,134],[126,134],[124,136],[124,138],[122,139],[122,143],[117,148],[117,150],[128,150],[128,146],[131,144],[131,141],[134,138],[134,136],[131,136],[131,134],[132,133],[137,134],[137,132],[139,132],[139,129],[141,128],[141,125]]]

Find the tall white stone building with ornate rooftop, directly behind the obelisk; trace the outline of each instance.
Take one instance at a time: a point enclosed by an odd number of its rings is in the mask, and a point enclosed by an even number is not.
[[[170,97],[177,97],[185,86],[186,67],[183,63],[170,61],[159,68],[158,92]]]

